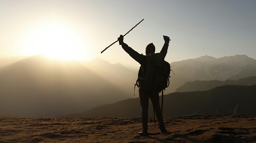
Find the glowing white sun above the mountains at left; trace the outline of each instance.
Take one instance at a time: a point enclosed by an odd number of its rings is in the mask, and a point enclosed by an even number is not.
[[[74,30],[67,26],[51,23],[37,27],[23,42],[27,55],[44,55],[60,60],[89,60],[90,51]]]

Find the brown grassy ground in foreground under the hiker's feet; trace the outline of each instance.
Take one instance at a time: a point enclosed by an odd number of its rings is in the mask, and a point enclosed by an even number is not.
[[[148,137],[140,118],[0,117],[3,142],[256,142],[255,115],[188,115],[164,118],[168,133],[153,120]]]

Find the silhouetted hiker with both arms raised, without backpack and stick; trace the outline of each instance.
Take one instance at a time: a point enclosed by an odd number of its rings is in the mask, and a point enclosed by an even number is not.
[[[161,54],[165,57],[167,54],[168,46],[169,46],[169,37],[163,36],[164,38],[164,45],[161,50]],[[142,80],[144,79],[146,75],[146,66],[147,66],[147,56],[150,56],[151,54],[155,54],[155,45],[153,43],[150,43],[146,46],[146,56],[139,54],[135,50],[133,50],[130,46],[128,46],[126,43],[123,42],[123,36],[120,35],[118,38],[119,44],[122,45],[123,50],[128,53],[134,60],[136,60],[138,63],[141,64],[140,70],[139,70],[139,77],[142,77]],[[160,109],[159,104],[159,92],[154,89],[146,89],[145,84],[143,82],[140,83],[139,87],[139,97],[140,97],[140,105],[141,105],[141,119],[142,119],[142,127],[143,130],[139,134],[142,136],[148,136],[147,133],[147,121],[148,121],[148,100],[151,99],[154,111],[157,116],[159,128],[161,130],[161,133],[166,133],[167,130],[164,127],[163,122],[163,115]]]

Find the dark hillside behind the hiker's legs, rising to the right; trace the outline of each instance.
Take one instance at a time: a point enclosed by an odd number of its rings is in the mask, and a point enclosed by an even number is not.
[[[256,114],[256,85],[225,85],[207,91],[175,92],[164,96],[163,116],[189,114]],[[151,104],[150,104],[151,105]],[[153,116],[152,106],[149,116]],[[140,117],[139,99],[101,105],[60,117]]]

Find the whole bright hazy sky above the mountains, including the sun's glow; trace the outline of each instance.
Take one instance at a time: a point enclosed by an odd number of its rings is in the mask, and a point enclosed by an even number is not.
[[[0,1],[0,56],[45,54],[57,58],[139,66],[116,43],[124,37],[139,53],[153,42],[156,52],[172,41],[169,62],[208,55],[256,59],[256,1]]]

